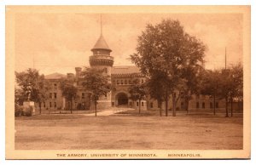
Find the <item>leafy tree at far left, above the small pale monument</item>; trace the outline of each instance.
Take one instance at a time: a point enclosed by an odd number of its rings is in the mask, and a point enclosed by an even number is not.
[[[49,84],[44,80],[44,75],[39,75],[38,70],[29,68],[26,71],[15,72],[16,82],[20,86],[20,99],[22,102],[30,100],[39,104],[41,114],[42,102],[47,100],[47,91]]]

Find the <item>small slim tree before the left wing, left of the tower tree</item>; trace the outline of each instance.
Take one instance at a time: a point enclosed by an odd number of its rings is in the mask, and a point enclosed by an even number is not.
[[[61,79],[60,88],[62,96],[64,96],[67,101],[70,101],[70,112],[73,113],[73,100],[77,96],[78,88],[74,85],[73,80],[69,79]]]

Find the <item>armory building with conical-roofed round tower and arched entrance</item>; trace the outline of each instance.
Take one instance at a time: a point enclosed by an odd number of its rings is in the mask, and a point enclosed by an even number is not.
[[[99,98],[98,109],[108,109],[113,106],[131,107],[137,109],[139,106],[138,101],[130,100],[130,94],[128,92],[131,87],[131,80],[136,77],[140,80],[140,83],[145,82],[145,78],[139,71],[139,68],[135,65],[122,65],[114,66],[114,58],[111,56],[112,50],[108,47],[104,37],[101,35],[95,46],[91,49],[92,55],[90,55],[90,67],[97,69],[105,69],[106,73],[111,78],[113,85],[112,91]],[[77,97],[73,100],[73,110],[90,110],[90,94],[85,91],[81,81],[80,73],[81,67],[75,68],[75,74],[67,73],[63,75],[60,73],[53,73],[45,76],[45,79],[49,82],[49,100],[43,103],[42,110],[69,110],[71,103],[62,97],[60,86],[60,79],[67,78],[72,80],[78,88]],[[148,98],[148,97],[147,97]],[[193,95],[192,100],[189,101],[189,110],[211,110],[213,108],[213,100],[209,96],[205,95]],[[216,100],[215,107],[218,110],[224,110],[225,101]],[[165,102],[162,108],[165,109]],[[169,109],[172,109],[172,98],[169,100]],[[242,105],[240,105],[242,106]],[[158,104],[156,100],[142,100],[142,110],[156,110]],[[185,101],[181,94],[180,100],[177,102],[177,111],[183,111],[185,109]],[[234,110],[240,109],[238,105],[234,105]]]

